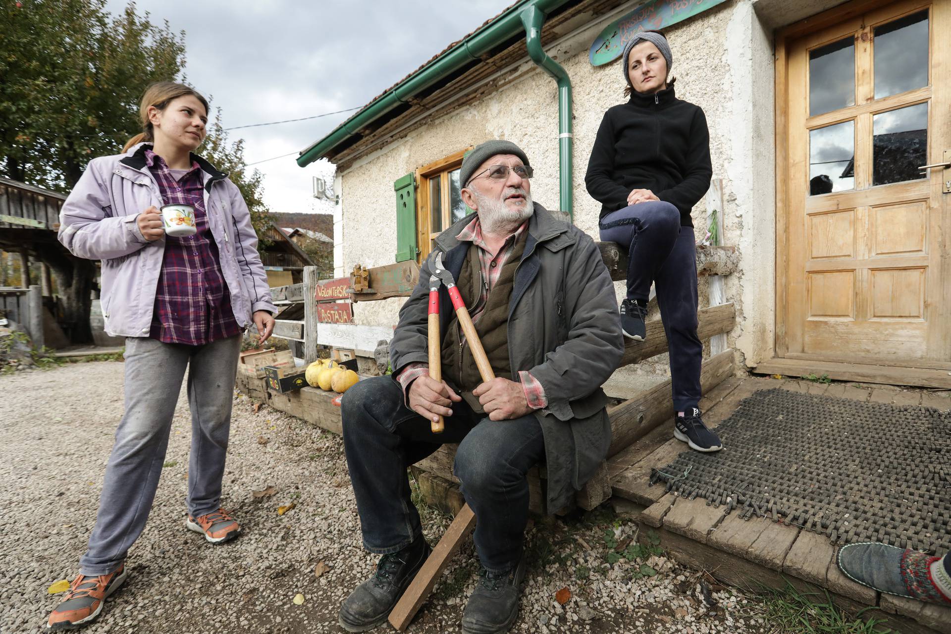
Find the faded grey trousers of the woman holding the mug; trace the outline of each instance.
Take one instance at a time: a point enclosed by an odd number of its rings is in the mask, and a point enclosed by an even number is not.
[[[241,338],[204,346],[126,338],[126,413],[116,430],[80,574],[115,570],[146,528],[186,368],[192,434],[186,504],[193,517],[218,510]]]

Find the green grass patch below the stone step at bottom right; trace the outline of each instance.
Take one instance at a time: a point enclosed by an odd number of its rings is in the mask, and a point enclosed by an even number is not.
[[[800,592],[786,582],[786,587],[777,590],[763,587],[759,598],[763,601],[762,616],[767,624],[780,632],[803,632],[804,634],[888,634],[892,629],[882,629],[878,624],[883,619],[864,621],[866,607],[852,615],[832,603],[828,592]],[[897,633],[895,633],[897,634]]]

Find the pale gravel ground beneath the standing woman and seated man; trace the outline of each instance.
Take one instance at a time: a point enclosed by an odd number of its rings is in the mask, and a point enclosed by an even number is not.
[[[62,597],[47,588],[76,573],[123,412],[122,384],[120,362],[0,376],[3,634],[45,631],[49,610]],[[234,512],[244,534],[222,546],[184,528],[189,439],[183,393],[155,506],[129,551],[126,586],[85,631],[342,631],[338,606],[372,573],[376,558],[360,547],[340,438],[266,406],[255,412],[249,399],[236,394],[223,506]],[[276,492],[253,494],[268,487]],[[290,504],[293,509],[278,513]],[[430,509],[423,518],[435,545],[449,518]],[[699,574],[663,556],[625,559],[622,551],[635,530],[630,518],[611,509],[539,521],[529,531],[531,567],[513,631],[767,631],[755,616],[756,601],[739,591],[712,585],[716,605],[708,607]],[[476,571],[470,542],[409,631],[458,632]],[[563,588],[571,598],[560,605],[555,595]],[[299,593],[304,602],[295,605]],[[378,630],[392,631],[388,624]]]

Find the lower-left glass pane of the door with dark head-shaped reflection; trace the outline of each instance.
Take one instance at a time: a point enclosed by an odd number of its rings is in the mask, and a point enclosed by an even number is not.
[[[855,187],[855,122],[809,131],[809,196]]]

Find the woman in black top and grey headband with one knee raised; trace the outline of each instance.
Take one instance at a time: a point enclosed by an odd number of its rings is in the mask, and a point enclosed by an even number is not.
[[[670,344],[674,436],[696,451],[723,449],[700,417],[696,242],[690,210],[707,193],[707,118],[677,99],[673,56],[657,31],[635,35],[621,56],[627,104],[611,107],[594,140],[585,184],[601,202],[601,240],[628,248],[628,294],[621,302],[624,334],[646,336],[650,284],[657,290]]]

